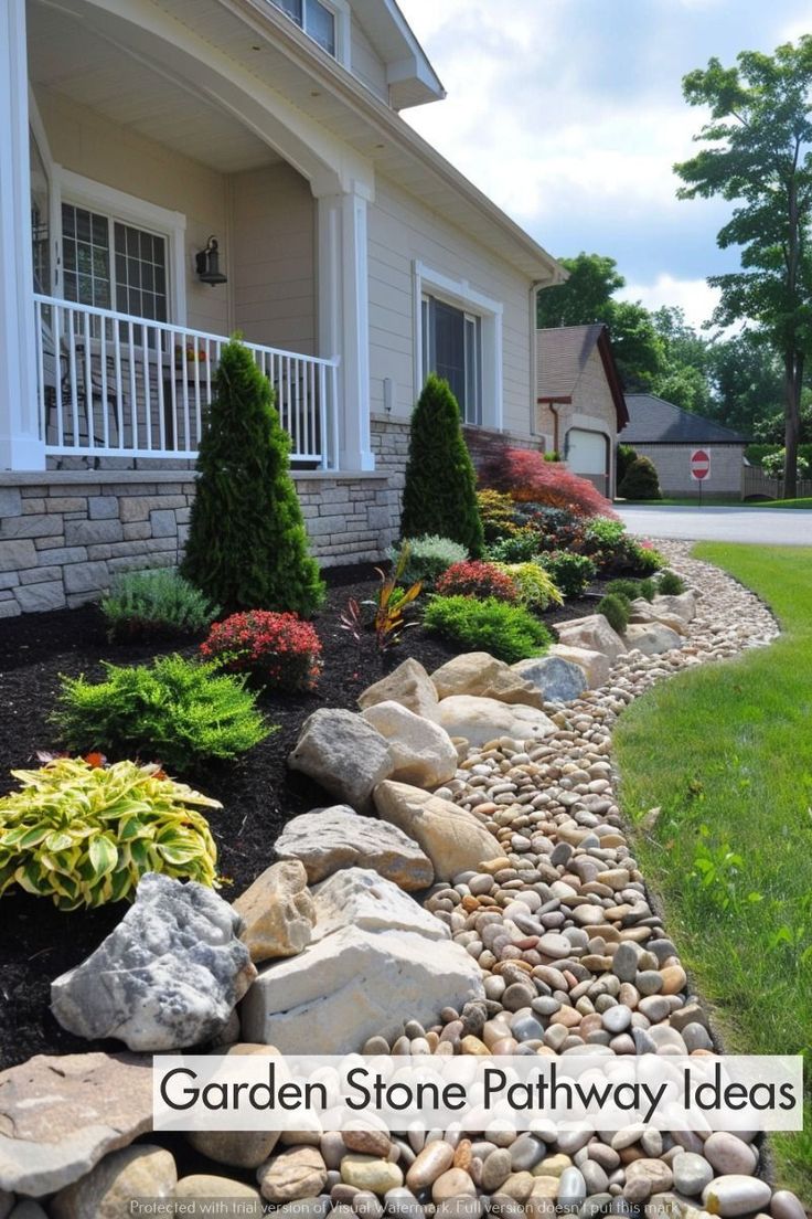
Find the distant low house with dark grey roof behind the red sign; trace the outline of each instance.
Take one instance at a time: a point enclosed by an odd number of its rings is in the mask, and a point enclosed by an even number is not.
[[[632,445],[656,466],[663,495],[699,495],[690,477],[690,455],[702,449],[711,458],[702,490],[710,495],[740,495],[747,440],[701,414],[683,411],[656,394],[627,394],[629,422],[621,444]]]

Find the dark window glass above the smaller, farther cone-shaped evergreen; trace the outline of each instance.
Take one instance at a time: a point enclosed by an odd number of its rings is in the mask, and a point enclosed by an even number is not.
[[[482,319],[433,296],[421,306],[422,377],[444,377],[466,423],[482,423]]]

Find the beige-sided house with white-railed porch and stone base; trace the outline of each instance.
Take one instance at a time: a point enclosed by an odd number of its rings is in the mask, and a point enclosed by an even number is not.
[[[443,96],[394,0],[5,0],[0,616],[178,561],[235,330],[325,564],[397,530],[430,369],[538,444],[564,273],[401,117]]]

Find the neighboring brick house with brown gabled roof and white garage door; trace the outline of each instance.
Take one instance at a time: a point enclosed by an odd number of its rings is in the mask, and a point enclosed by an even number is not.
[[[628,414],[609,330],[601,323],[537,330],[537,429],[609,499],[615,495],[615,444]]]

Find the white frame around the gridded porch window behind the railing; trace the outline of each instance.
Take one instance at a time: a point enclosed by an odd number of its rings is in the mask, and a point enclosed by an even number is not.
[[[82,174],[65,169],[60,165],[54,166],[52,173],[55,205],[54,212],[58,217],[56,234],[60,245],[58,279],[56,295],[63,296],[65,285],[62,277],[62,204],[73,204],[77,207],[86,208],[97,215],[106,216],[108,221],[121,221],[123,224],[145,229],[164,238],[167,243],[167,321],[173,325],[186,324],[186,217],[183,212],[172,212],[167,207],[150,204],[136,195],[128,195],[114,187],[106,187],[101,182],[84,178]],[[114,282],[114,249],[111,247],[111,282]],[[123,312],[123,310],[113,310]]]

